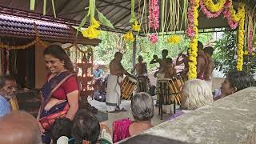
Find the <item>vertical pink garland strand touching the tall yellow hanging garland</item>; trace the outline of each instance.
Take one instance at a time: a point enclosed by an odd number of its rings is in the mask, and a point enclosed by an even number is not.
[[[190,38],[194,38],[194,0],[190,0],[189,2],[189,8],[187,12],[187,18],[188,18],[188,28],[186,30],[187,36]]]

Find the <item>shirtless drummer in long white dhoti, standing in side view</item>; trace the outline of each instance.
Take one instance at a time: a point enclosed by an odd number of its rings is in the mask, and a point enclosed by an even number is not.
[[[110,62],[110,76],[107,80],[106,110],[114,112],[120,110],[121,104],[121,82],[123,74],[133,77],[122,66],[122,53],[116,52],[114,59]]]

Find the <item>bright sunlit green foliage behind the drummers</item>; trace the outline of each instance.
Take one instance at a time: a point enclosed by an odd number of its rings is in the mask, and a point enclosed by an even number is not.
[[[144,58],[144,62],[148,64],[148,69],[154,70],[158,64],[149,65],[150,60],[153,58],[153,55],[158,55],[161,58],[161,51],[163,49],[169,50],[169,57],[176,58],[180,52],[186,53],[187,47],[189,46],[189,38],[186,37],[186,34],[180,34],[180,42],[178,44],[170,44],[166,42],[166,38],[168,35],[160,35],[158,36],[158,42],[156,45],[151,44],[147,37],[137,36],[137,54],[142,55]],[[114,53],[117,51],[122,52],[123,59],[122,65],[126,70],[132,69],[132,54],[133,54],[133,43],[132,42],[124,42],[123,34],[116,34],[112,32],[102,31],[100,39],[102,42],[94,47],[94,60],[95,62],[100,62],[108,65],[110,61],[114,58]],[[213,34],[204,33],[199,34],[199,41],[206,44],[206,42],[210,42],[213,38]]]

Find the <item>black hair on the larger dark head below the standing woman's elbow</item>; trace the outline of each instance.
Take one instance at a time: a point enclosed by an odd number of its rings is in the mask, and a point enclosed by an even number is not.
[[[96,144],[100,134],[100,125],[94,114],[86,109],[81,109],[74,115],[71,131],[77,144],[82,144],[83,140]]]

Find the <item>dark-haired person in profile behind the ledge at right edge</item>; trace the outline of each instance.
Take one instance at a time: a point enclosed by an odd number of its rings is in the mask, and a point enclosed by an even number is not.
[[[231,71],[226,75],[224,82],[222,82],[222,86],[220,88],[221,93],[214,94],[214,101],[224,98],[230,94],[234,94],[239,90],[246,89],[247,87],[255,86],[254,84],[254,77],[251,74],[248,74],[245,71]]]

